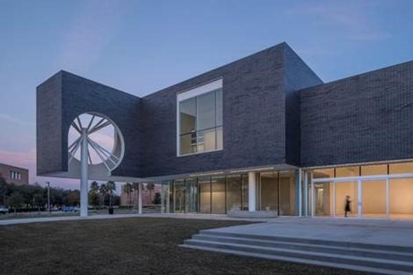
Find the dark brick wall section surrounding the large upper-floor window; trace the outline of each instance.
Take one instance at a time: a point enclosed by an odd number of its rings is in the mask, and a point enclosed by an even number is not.
[[[144,177],[283,164],[285,157],[283,45],[271,47],[142,98]],[[176,156],[176,95],[223,80],[224,149]]]

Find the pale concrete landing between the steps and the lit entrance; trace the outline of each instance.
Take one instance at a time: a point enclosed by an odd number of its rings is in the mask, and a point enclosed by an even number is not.
[[[413,221],[403,220],[279,218],[210,231],[413,247]]]

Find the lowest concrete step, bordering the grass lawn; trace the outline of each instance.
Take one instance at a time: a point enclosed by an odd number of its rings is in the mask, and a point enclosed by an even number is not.
[[[218,252],[218,253],[226,253],[226,254],[234,254],[238,256],[249,256],[267,260],[275,260],[275,261],[287,261],[292,263],[303,263],[307,265],[321,265],[326,267],[336,267],[342,268],[345,270],[356,270],[359,272],[368,272],[371,274],[382,274],[382,275],[412,275],[412,272],[403,272],[397,270],[385,270],[376,267],[365,267],[361,265],[348,265],[343,263],[329,263],[325,261],[315,261],[315,260],[308,260],[308,259],[300,259],[296,257],[287,257],[287,256],[279,256],[279,255],[268,255],[268,254],[260,254],[260,253],[253,253],[253,252],[243,252],[237,250],[225,250],[220,248],[208,248],[208,247],[198,247],[196,245],[180,245],[182,248],[191,248],[191,249],[200,249],[209,252]]]

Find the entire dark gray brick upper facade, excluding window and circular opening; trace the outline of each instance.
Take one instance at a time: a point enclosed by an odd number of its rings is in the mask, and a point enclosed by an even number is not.
[[[224,149],[177,157],[176,96],[223,80]],[[38,174],[67,170],[76,115],[107,115],[125,137],[113,175],[162,177],[276,164],[413,158],[413,63],[323,84],[286,43],[138,98],[59,72],[37,89]]]

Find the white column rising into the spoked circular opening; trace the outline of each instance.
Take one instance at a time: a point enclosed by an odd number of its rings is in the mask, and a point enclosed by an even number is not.
[[[87,217],[87,129],[82,129],[81,138],[81,217]]]

